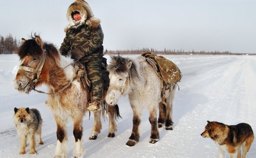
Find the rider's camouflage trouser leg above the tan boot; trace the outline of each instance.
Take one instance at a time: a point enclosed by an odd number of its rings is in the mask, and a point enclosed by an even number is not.
[[[102,99],[101,60],[87,61],[83,64],[91,81],[92,99],[99,101]]]

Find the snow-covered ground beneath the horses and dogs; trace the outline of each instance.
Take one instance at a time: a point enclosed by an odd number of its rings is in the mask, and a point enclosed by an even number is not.
[[[132,58],[138,55],[130,56]],[[88,140],[93,117],[84,117],[83,145],[85,157],[90,158],[218,158],[215,143],[203,138],[207,120],[228,125],[246,122],[256,132],[256,56],[224,55],[164,55],[180,68],[183,77],[179,83],[173,103],[172,131],[160,130],[160,141],[149,143],[150,123],[144,111],[140,126],[140,142],[134,147],[125,143],[132,131],[132,110],[128,97],[119,100],[122,119],[118,120],[116,137],[108,138],[108,119],[97,140]],[[109,60],[109,56],[105,56]],[[0,157],[50,158],[56,146],[56,123],[50,108],[45,105],[46,95],[31,92],[30,95],[14,89],[19,59],[17,55],[0,55]],[[46,91],[42,86],[39,90]],[[37,145],[37,155],[19,155],[19,138],[13,124],[14,107],[37,108],[42,115],[43,145]],[[107,117],[108,118],[108,117]],[[75,144],[72,121],[68,124],[68,155],[72,157]],[[252,143],[247,158],[255,158],[256,142]],[[225,154],[225,158],[228,154]]]

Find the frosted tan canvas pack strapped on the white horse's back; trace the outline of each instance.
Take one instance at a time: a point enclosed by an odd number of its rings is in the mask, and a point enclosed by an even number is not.
[[[167,106],[165,102],[165,91],[173,90],[174,84],[180,81],[182,74],[177,65],[172,61],[166,59],[163,56],[157,56],[154,53],[146,52],[142,56],[146,58],[146,61],[153,67],[157,76],[161,79],[161,98],[162,103]],[[178,84],[177,84],[178,85]]]

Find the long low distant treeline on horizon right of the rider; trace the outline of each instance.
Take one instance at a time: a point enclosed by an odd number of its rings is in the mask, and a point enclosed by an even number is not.
[[[142,48],[137,50],[107,50],[108,54],[142,54],[145,52],[154,52],[155,54],[164,54],[164,55],[246,55],[247,53],[232,53],[230,51],[184,51],[184,50],[167,50],[164,49],[163,51],[156,50],[154,48]],[[256,54],[248,54],[248,55],[256,55]]]

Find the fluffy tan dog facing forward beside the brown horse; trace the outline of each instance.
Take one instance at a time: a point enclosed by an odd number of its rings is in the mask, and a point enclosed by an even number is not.
[[[36,154],[35,134],[37,134],[38,144],[43,144],[41,139],[42,118],[40,112],[31,108],[14,108],[13,121],[20,141],[19,154],[25,154],[27,139],[29,139],[30,154]]]

